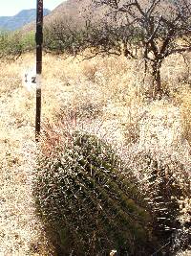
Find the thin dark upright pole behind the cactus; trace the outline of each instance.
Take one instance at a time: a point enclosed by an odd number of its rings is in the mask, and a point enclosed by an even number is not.
[[[36,116],[35,140],[39,141],[41,121],[41,73],[42,73],[42,43],[43,43],[43,0],[37,0],[36,6]]]

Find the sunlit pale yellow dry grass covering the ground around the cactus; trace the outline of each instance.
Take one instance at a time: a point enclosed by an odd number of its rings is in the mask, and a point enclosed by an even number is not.
[[[51,255],[32,207],[34,92],[23,87],[21,75],[33,63],[31,54],[14,63],[0,63],[2,256]],[[138,174],[143,168],[140,158],[149,152],[159,161],[179,162],[190,175],[190,67],[178,56],[167,59],[162,84],[168,97],[152,102],[150,77],[143,86],[143,63],[137,60],[96,57],[81,61],[46,55],[43,122],[67,122],[106,138]],[[179,179],[182,174],[177,175]],[[182,216],[190,218],[190,200],[186,201]]]

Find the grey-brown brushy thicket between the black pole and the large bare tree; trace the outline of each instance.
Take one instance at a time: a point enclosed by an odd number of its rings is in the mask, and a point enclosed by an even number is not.
[[[101,20],[91,23],[88,18],[76,22],[74,17],[71,19],[63,17],[53,20],[45,27],[44,48],[55,54],[72,55],[89,49],[87,58],[97,54],[119,56],[122,53],[128,57],[131,54],[127,50],[127,44],[134,43],[136,45],[137,34],[124,40],[126,34],[128,34],[127,29],[121,24],[112,25]]]

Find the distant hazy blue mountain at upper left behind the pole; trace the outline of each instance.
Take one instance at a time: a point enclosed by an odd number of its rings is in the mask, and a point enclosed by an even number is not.
[[[44,10],[44,15],[48,15],[51,11],[48,9]],[[0,28],[2,30],[14,31],[22,28],[24,25],[35,20],[36,11],[35,9],[23,10],[13,16],[1,16],[0,17]]]

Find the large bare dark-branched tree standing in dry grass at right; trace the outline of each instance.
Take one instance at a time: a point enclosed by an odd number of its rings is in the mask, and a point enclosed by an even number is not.
[[[174,53],[191,50],[190,0],[93,0],[94,4],[107,7],[107,16],[126,27],[126,35],[136,37],[143,50],[145,71],[151,63],[154,98],[162,95],[160,67],[164,58]],[[129,33],[127,33],[127,31]],[[126,41],[125,41],[126,39]],[[128,43],[129,37],[123,42]],[[131,47],[128,56],[134,56]]]

